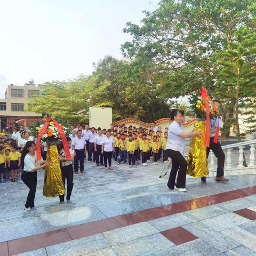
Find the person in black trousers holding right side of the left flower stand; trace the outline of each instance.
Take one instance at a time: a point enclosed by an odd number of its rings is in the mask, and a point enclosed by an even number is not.
[[[67,141],[68,141],[68,147],[69,147],[69,152],[71,157],[67,158],[65,151],[63,149],[63,144],[61,144],[60,148],[59,148],[59,154],[60,156],[58,156],[58,159],[60,161],[60,168],[61,168],[61,174],[62,174],[62,181],[65,187],[65,181],[67,179],[67,193],[66,193],[66,199],[67,199],[67,203],[71,203],[70,201],[70,196],[72,193],[72,189],[74,186],[73,183],[73,175],[74,175],[74,171],[73,171],[73,158],[74,158],[74,149],[71,148],[71,138],[67,137]],[[61,195],[60,196],[60,203],[64,202],[64,196],[65,195]]]

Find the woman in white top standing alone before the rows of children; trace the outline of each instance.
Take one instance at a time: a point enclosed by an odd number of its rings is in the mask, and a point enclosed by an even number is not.
[[[105,164],[105,171],[113,170],[111,167],[111,158],[113,155],[113,151],[115,150],[115,142],[112,137],[110,137],[110,131],[106,132],[106,137],[104,137],[101,146],[101,154],[104,154],[104,164]],[[108,168],[107,168],[108,162]]]

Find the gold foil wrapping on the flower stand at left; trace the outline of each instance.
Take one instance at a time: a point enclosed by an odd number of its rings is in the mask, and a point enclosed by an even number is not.
[[[47,197],[61,196],[65,193],[65,187],[62,182],[60,162],[57,146],[48,146],[46,161],[52,162],[45,167],[43,195]]]

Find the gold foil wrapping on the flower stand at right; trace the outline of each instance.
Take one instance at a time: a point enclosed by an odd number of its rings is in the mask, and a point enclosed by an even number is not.
[[[187,174],[193,178],[206,177],[208,175],[206,147],[204,145],[205,138],[205,121],[195,123],[195,132],[201,131],[202,136],[191,138],[190,149],[187,158]]]

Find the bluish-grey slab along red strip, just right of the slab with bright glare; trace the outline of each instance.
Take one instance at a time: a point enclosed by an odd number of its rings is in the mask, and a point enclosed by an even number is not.
[[[150,205],[140,198],[125,199],[118,202],[95,205],[107,217],[149,209]]]

